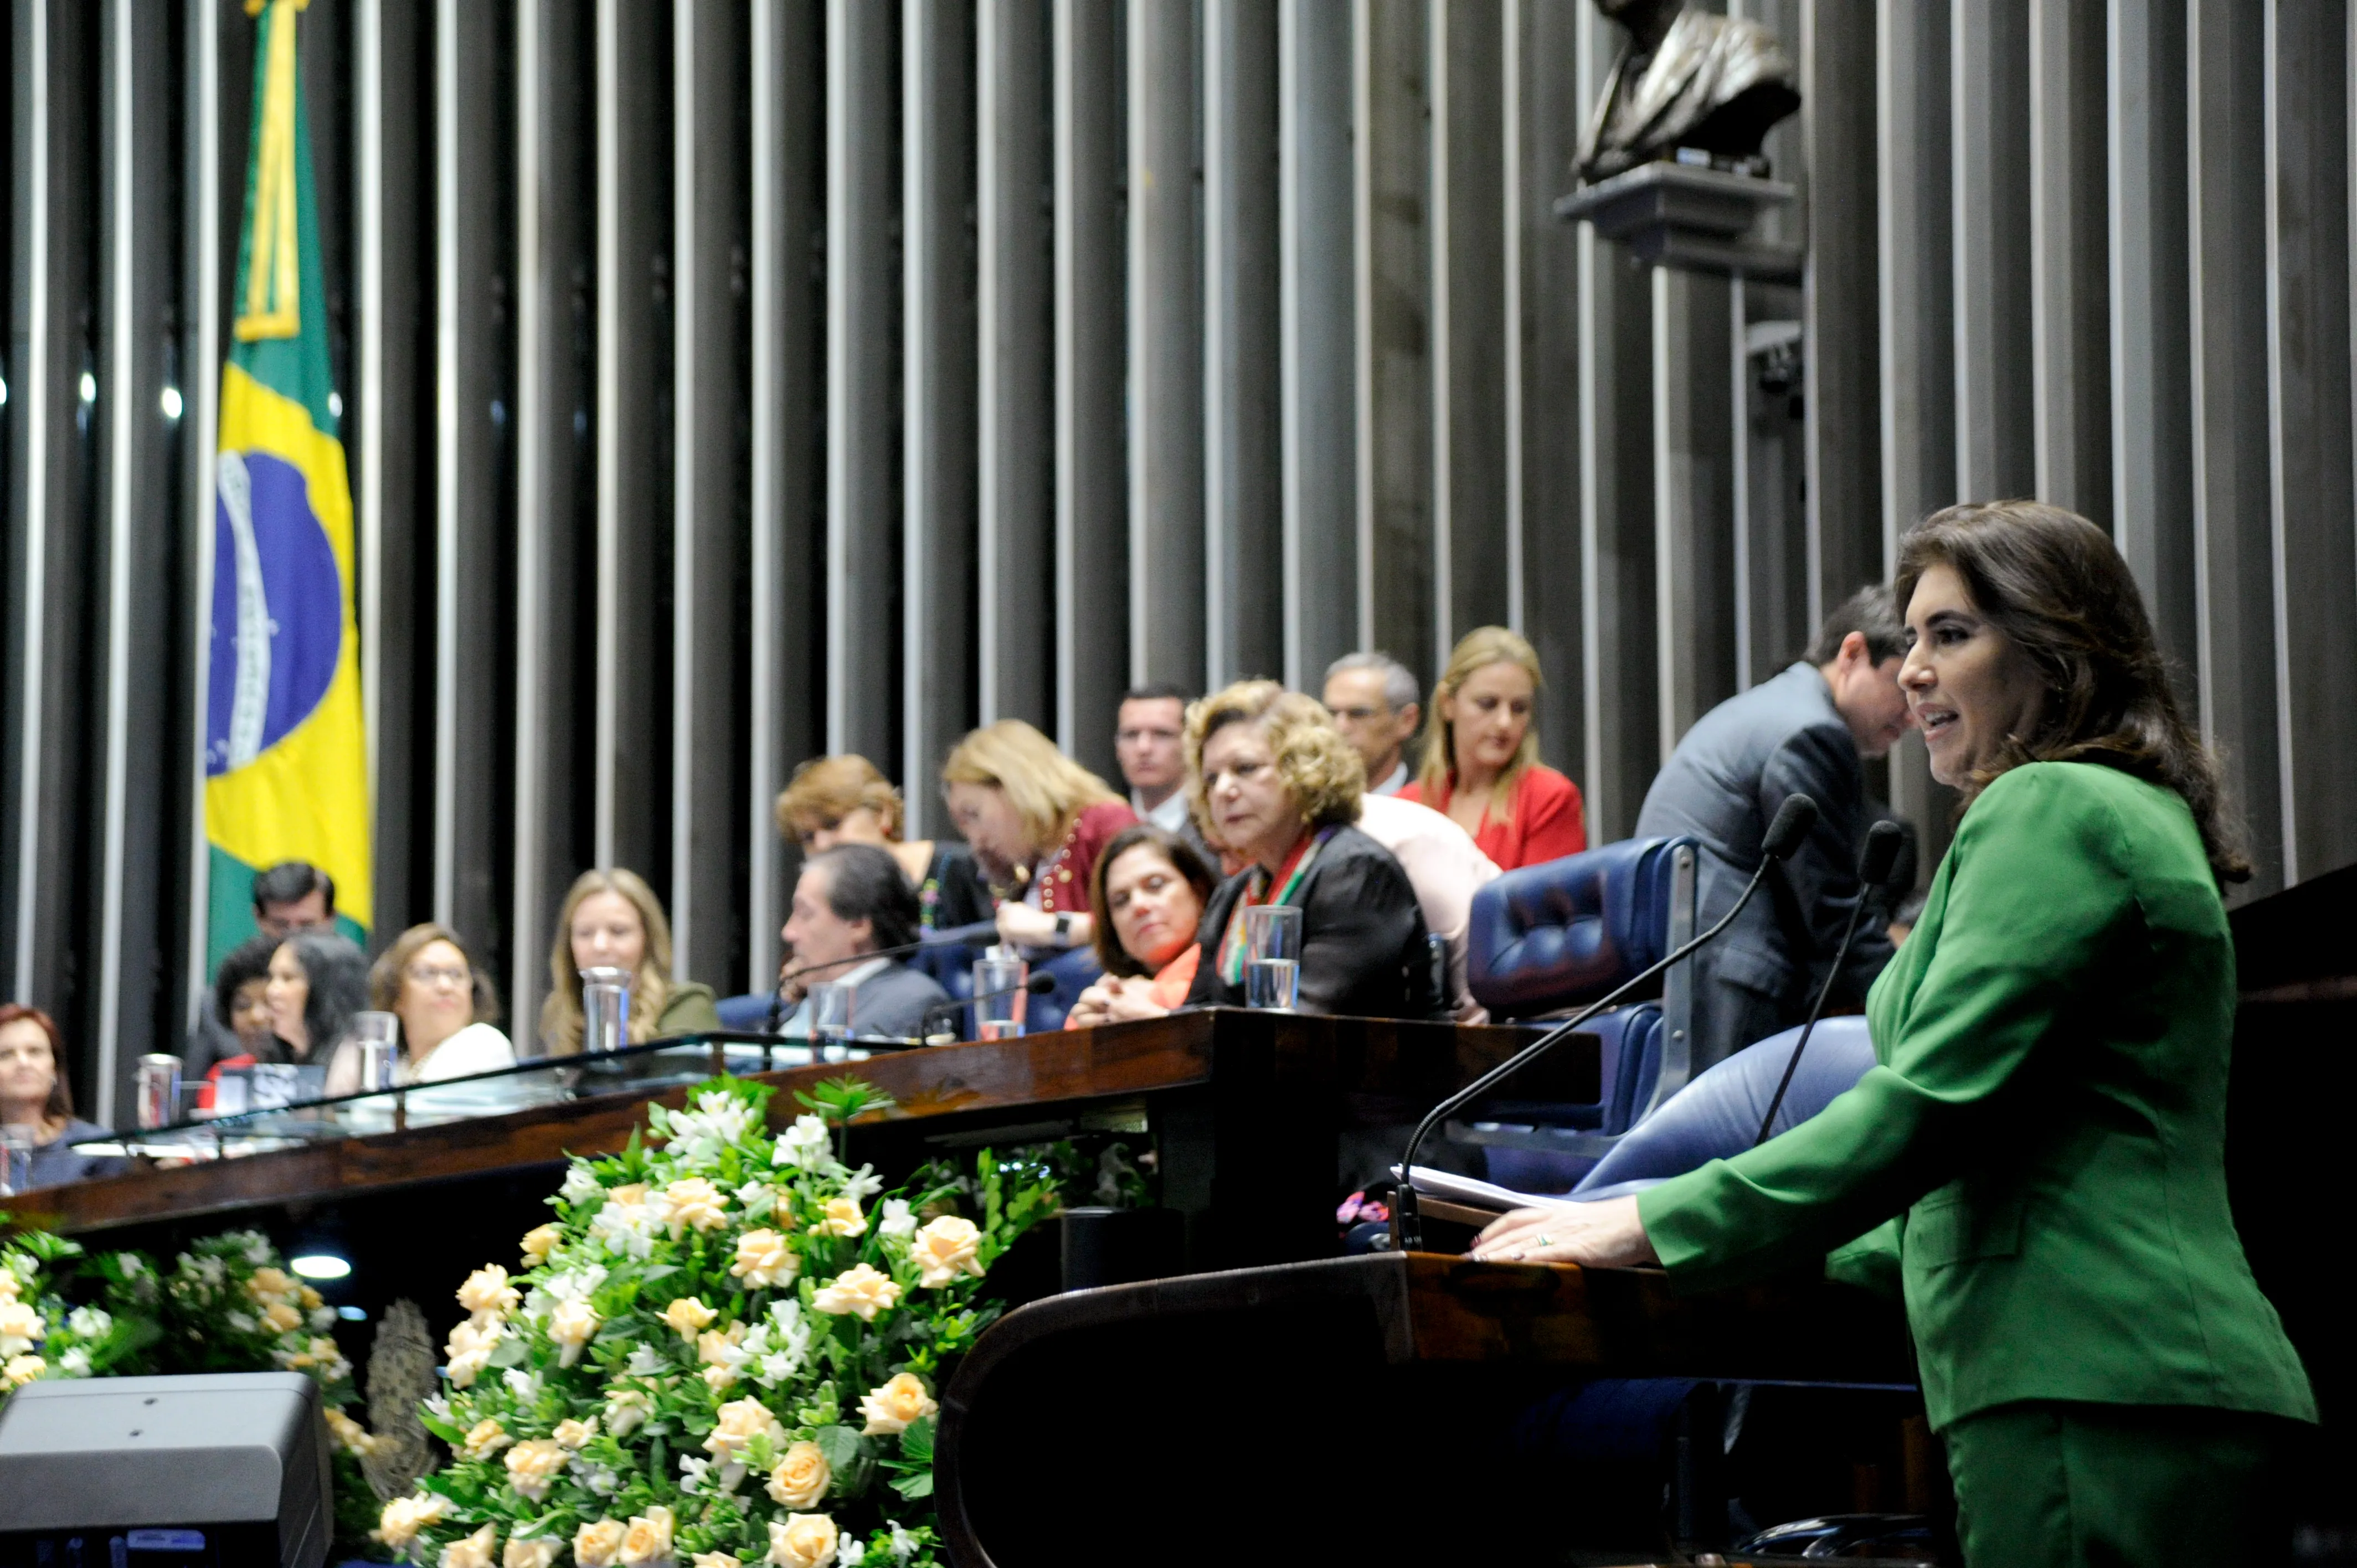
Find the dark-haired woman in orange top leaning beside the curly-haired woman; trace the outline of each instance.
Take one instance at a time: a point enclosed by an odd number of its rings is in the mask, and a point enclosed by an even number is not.
[[[1065,1028],[1160,1019],[1186,1004],[1202,962],[1202,910],[1219,877],[1176,832],[1122,828],[1096,858],[1089,908],[1101,981],[1080,993]]]

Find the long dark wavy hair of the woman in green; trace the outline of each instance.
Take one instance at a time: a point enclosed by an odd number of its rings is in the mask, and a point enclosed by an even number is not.
[[[2006,736],[1996,766],[1975,771],[1966,804],[2025,762],[2100,762],[2176,790],[2194,813],[2218,882],[2251,875],[2218,759],[2185,722],[2128,564],[2095,523],[2034,500],[1947,507],[1900,542],[1897,601],[1933,566],[1963,578],[1989,625],[2013,639],[2046,686],[2027,736]]]

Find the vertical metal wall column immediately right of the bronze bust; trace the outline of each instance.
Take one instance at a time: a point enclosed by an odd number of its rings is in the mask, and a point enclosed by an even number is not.
[[[1874,24],[1869,0],[1815,0],[1801,12],[1801,144],[1808,163],[1801,413],[1808,422],[1813,632],[1827,608],[1881,575],[1876,165],[1867,156],[1876,144]]]

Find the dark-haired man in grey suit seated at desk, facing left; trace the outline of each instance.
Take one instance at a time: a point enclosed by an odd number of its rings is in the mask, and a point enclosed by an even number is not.
[[[801,865],[794,913],[785,920],[785,946],[804,986],[834,981],[851,986],[851,1033],[860,1037],[915,1040],[924,1014],[950,995],[933,976],[879,948],[917,941],[917,889],[900,863],[877,844],[837,844]],[[787,1035],[811,1033],[811,1002],[785,1026]]]

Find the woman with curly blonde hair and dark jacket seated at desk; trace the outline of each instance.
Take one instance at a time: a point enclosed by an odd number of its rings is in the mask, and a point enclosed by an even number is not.
[[[1186,717],[1195,816],[1244,870],[1202,917],[1190,1004],[1244,1004],[1244,910],[1301,910],[1301,1012],[1445,1016],[1424,910],[1391,851],[1353,828],[1367,769],[1325,707],[1275,681],[1240,681]]]

